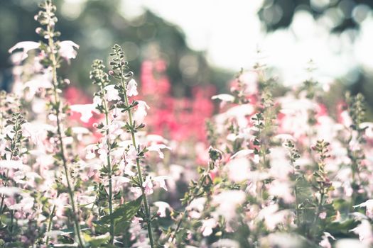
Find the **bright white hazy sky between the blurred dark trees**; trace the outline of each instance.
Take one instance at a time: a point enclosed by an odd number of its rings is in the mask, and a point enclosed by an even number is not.
[[[78,14],[85,0],[66,0],[66,15]],[[311,0],[314,8],[330,0]],[[343,6],[330,9],[315,19],[307,11],[297,11],[291,26],[265,33],[257,11],[262,0],[124,0],[121,12],[136,18],[150,9],[161,18],[179,26],[188,45],[205,51],[209,62],[217,67],[238,71],[249,68],[256,60],[256,50],[263,51],[265,62],[279,69],[285,84],[294,84],[305,77],[307,62],[315,62],[315,76],[320,81],[343,78],[355,81],[357,68],[373,73],[373,13],[364,5],[354,6],[352,18],[360,23],[360,33],[345,30],[330,34],[344,18]],[[279,18],[281,9],[266,18]],[[357,37],[356,37],[357,35]],[[353,39],[352,37],[356,37]]]

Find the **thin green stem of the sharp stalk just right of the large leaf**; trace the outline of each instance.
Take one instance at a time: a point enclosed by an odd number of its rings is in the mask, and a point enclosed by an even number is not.
[[[123,69],[121,69],[121,75],[123,75]],[[123,76],[121,76],[121,86],[123,87],[123,90],[124,90],[124,101],[126,102],[126,106],[128,107],[129,106],[129,101],[128,101],[128,96],[127,96],[127,91],[126,91],[126,83],[124,81]],[[128,111],[128,115],[129,115],[129,125],[131,125],[131,127],[133,127],[134,122],[132,121],[131,110]],[[134,145],[136,151],[139,152],[139,150],[137,148],[137,145],[136,145],[136,139],[135,139],[134,132],[131,132],[131,137],[132,137],[132,145]],[[138,177],[139,177],[139,183],[141,184],[141,191],[142,191],[142,197],[143,197],[143,201],[144,201],[144,208],[145,208],[145,214],[146,214],[146,224],[148,226],[149,240],[150,240],[151,248],[153,248],[153,247],[156,247],[156,246],[154,245],[153,231],[151,229],[151,217],[150,217],[148,200],[146,198],[145,189],[142,186],[144,184],[144,180],[143,180],[143,176],[142,176],[142,173],[141,173],[139,158],[136,158],[136,167],[137,167],[137,174],[138,174]]]

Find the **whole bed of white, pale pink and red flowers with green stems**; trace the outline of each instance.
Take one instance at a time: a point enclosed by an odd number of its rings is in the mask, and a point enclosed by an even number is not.
[[[212,96],[219,111],[196,133],[212,101],[197,90],[178,106],[163,61],[144,62],[140,84],[114,45],[108,65],[92,63],[93,98],[70,105],[59,69],[79,46],[58,40],[55,10],[40,4],[43,41],[9,50],[1,247],[373,245],[373,123],[361,94],[328,108],[328,87],[309,78],[276,91],[258,63]]]

